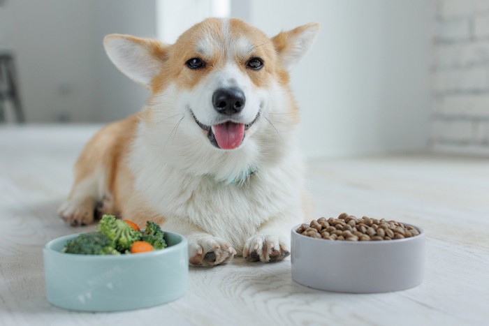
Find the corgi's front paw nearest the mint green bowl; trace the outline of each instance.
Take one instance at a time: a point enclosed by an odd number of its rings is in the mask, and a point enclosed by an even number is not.
[[[189,262],[196,266],[215,266],[226,264],[233,259],[235,249],[219,237],[189,237]]]

